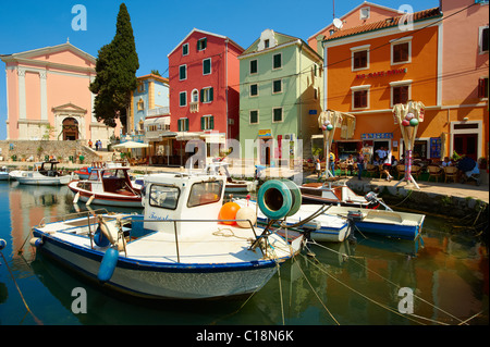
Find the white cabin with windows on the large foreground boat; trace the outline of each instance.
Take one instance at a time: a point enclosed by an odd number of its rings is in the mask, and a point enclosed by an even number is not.
[[[144,227],[171,234],[176,232],[180,236],[192,234],[193,231],[216,230],[223,205],[225,179],[225,176],[181,173],[161,173],[145,177]],[[150,220],[180,222],[148,222]]]

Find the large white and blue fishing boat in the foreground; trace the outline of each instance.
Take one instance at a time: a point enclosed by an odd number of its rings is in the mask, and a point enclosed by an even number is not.
[[[304,236],[257,228],[249,220],[218,220],[224,185],[223,176],[150,175],[143,215],[44,220],[33,227],[30,244],[96,283],[134,296],[207,299],[255,293],[302,249]],[[233,222],[242,226],[224,224]]]

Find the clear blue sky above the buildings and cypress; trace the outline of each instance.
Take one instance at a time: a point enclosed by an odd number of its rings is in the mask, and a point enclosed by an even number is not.
[[[0,0],[0,54],[12,54],[70,42],[97,58],[98,50],[115,34],[115,20],[122,1],[113,0]],[[168,76],[167,54],[193,29],[228,36],[248,48],[267,28],[299,37],[305,41],[362,0],[126,0],[136,51],[137,76],[158,70]],[[439,0],[373,0],[391,9],[411,5],[416,11],[436,8]],[[83,4],[86,30],[74,30]],[[334,9],[334,11],[333,11]],[[4,63],[0,67],[0,139],[7,137],[7,83]]]

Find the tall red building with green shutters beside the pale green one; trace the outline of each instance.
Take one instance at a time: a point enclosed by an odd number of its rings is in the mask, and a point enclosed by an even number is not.
[[[185,142],[224,144],[238,136],[240,64],[243,48],[230,38],[193,29],[169,54],[170,129],[173,156],[185,160]]]

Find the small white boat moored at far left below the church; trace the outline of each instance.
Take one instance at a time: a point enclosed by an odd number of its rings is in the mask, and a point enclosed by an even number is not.
[[[73,175],[63,175],[57,169],[58,161],[48,161],[34,164],[33,171],[12,171],[11,178],[17,179],[20,184],[59,186],[65,185],[74,178]]]

